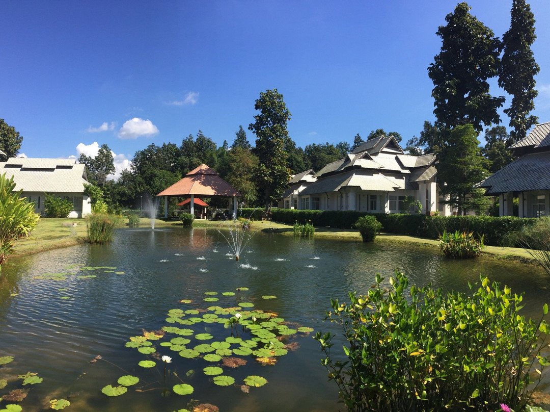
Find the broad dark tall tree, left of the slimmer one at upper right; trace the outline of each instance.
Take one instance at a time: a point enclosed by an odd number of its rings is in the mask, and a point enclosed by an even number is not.
[[[428,75],[434,85],[436,126],[472,124],[481,132],[482,124],[500,122],[497,109],[505,100],[491,96],[487,83],[497,74],[500,42],[469,11],[467,3],[459,3],[445,17],[447,25],[439,26],[441,52],[428,67]]]

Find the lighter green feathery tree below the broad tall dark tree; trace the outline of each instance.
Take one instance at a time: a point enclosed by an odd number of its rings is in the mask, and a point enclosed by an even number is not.
[[[477,196],[474,185],[488,175],[477,136],[472,124],[456,126],[438,154],[437,180],[445,183],[440,193],[444,198],[445,195],[449,197],[443,203],[456,206],[459,215],[471,210],[469,198]]]

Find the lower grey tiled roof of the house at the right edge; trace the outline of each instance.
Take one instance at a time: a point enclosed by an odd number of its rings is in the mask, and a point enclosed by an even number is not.
[[[550,151],[527,154],[487,177],[486,194],[550,189]]]

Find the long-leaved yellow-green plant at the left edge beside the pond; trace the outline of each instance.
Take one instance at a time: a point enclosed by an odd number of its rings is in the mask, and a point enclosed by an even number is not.
[[[13,176],[0,175],[0,272],[2,265],[13,252],[15,241],[29,236],[40,220],[35,204],[21,197],[23,189],[15,192]]]

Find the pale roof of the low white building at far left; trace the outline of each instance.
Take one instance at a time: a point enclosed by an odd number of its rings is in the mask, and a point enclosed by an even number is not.
[[[13,176],[15,190],[45,193],[83,193],[84,164],[74,159],[9,158],[0,163],[0,174]]]

